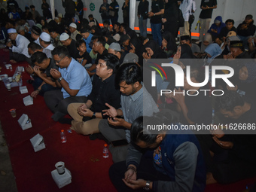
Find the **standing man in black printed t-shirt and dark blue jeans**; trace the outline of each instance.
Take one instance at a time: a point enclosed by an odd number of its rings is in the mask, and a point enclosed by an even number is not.
[[[164,12],[163,1],[154,0],[151,4],[151,12],[148,12],[148,17],[151,18],[151,30],[154,41],[156,41],[159,46],[162,44],[162,17],[161,14]]]

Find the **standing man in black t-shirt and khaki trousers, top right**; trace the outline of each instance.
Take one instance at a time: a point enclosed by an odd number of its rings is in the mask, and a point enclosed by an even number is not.
[[[203,41],[203,34],[209,29],[212,20],[212,11],[217,8],[217,0],[202,0],[200,8],[202,9],[200,13],[200,37],[199,40]]]

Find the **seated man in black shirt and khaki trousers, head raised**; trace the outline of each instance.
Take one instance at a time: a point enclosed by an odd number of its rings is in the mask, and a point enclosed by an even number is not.
[[[116,66],[119,64],[113,54],[99,57],[96,75],[93,75],[93,90],[86,103],[71,103],[68,111],[72,120],[71,129],[83,135],[99,133],[99,121],[107,118],[102,110],[108,105],[120,108],[120,91],[114,86]]]

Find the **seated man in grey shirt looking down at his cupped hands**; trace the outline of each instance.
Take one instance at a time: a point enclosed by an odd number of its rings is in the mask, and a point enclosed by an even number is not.
[[[151,116],[158,112],[157,104],[142,83],[142,72],[136,63],[125,63],[117,71],[116,84],[120,86],[121,108],[103,110],[108,115],[108,120],[99,122],[99,132],[109,142],[126,139],[130,142],[130,128],[133,120],[142,115]],[[143,105],[143,102],[147,105]],[[123,118],[120,118],[123,117]],[[128,145],[113,147],[110,145],[113,161],[119,162],[126,159]]]

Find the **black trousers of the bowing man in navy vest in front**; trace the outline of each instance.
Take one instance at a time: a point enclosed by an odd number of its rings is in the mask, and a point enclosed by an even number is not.
[[[143,189],[133,190],[123,183],[122,178],[124,178],[124,173],[126,170],[127,167],[125,161],[114,163],[109,169],[109,177],[117,191],[145,191]],[[146,181],[171,181],[168,175],[158,172],[157,169],[154,168],[152,158],[148,159],[145,157],[142,157],[142,160],[137,169],[137,179],[138,178],[142,178]]]

